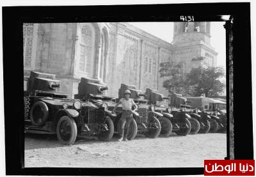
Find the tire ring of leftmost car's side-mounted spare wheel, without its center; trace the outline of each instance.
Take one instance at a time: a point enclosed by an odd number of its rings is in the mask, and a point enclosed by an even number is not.
[[[36,108],[37,106],[40,106],[41,111],[42,111],[43,114],[44,114],[43,117],[41,118],[40,123],[36,122],[36,121],[35,121],[35,118],[34,118],[34,116],[33,116],[33,111],[35,110],[35,108]],[[30,110],[30,113],[29,113],[29,118],[30,118],[31,123],[32,123],[33,125],[36,125],[36,126],[39,126],[39,127],[40,127],[40,126],[45,125],[45,122],[46,122],[46,120],[47,120],[47,118],[48,118],[48,115],[49,115],[49,108],[48,108],[47,104],[45,104],[43,101],[38,101],[38,102],[36,102],[35,104],[33,104],[33,106],[31,107],[31,110]]]

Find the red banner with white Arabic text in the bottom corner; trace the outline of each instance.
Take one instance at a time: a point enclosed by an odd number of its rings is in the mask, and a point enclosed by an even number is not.
[[[204,160],[205,176],[255,176],[254,160]]]

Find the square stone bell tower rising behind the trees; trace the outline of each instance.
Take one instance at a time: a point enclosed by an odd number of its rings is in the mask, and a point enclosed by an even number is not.
[[[175,22],[173,59],[182,62],[184,73],[193,67],[216,66],[218,53],[211,46],[211,22]]]

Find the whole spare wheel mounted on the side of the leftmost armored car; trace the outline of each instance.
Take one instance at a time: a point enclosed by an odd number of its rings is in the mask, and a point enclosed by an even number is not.
[[[33,104],[29,118],[31,123],[36,126],[42,126],[45,124],[49,115],[49,108],[43,101],[38,101]]]

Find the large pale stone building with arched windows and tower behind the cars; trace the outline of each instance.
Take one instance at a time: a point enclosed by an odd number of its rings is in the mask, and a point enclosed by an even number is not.
[[[209,22],[174,23],[173,43],[125,22],[24,24],[24,89],[30,71],[56,74],[61,92],[77,94],[81,77],[107,83],[117,97],[121,83],[168,94],[159,78],[161,62],[215,66]]]

